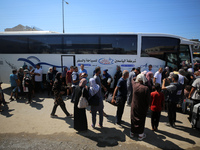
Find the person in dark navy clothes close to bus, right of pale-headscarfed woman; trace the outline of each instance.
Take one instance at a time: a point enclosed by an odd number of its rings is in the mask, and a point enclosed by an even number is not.
[[[110,85],[113,81],[113,78],[111,75],[108,73],[108,69],[103,70],[103,75],[102,75],[102,85],[106,88],[103,89],[103,92],[105,94],[105,97],[108,97],[108,94],[110,93]]]

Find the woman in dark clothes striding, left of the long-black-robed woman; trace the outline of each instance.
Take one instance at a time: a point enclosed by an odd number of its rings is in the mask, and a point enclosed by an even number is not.
[[[54,102],[53,110],[51,112],[51,117],[57,117],[57,115],[55,115],[55,112],[58,105],[60,105],[61,109],[63,110],[63,112],[66,114],[67,117],[72,117],[72,114],[70,114],[67,111],[65,107],[65,103],[62,99],[62,95],[65,93],[65,88],[62,85],[62,73],[60,72],[56,73],[55,82],[53,85],[53,92],[55,96],[55,102]]]

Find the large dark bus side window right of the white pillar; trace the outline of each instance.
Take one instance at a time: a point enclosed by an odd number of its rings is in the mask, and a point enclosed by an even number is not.
[[[142,37],[141,57],[165,60],[166,53],[178,53],[180,40],[170,37]]]

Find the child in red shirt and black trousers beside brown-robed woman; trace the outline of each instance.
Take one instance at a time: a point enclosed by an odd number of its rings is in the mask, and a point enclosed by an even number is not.
[[[156,83],[155,91],[151,93],[151,103],[150,103],[152,131],[158,130],[162,105],[164,108],[164,94],[161,93],[160,84]]]

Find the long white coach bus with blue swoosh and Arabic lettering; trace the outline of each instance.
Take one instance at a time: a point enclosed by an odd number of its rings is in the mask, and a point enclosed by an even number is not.
[[[108,69],[112,76],[116,66],[122,70],[148,65],[157,71],[159,67],[181,67],[181,63],[193,62],[192,46],[198,42],[168,35],[144,33],[120,34],[60,34],[45,31],[0,33],[0,81],[9,83],[13,69],[24,64],[35,67],[41,64],[43,74],[49,67],[62,71],[84,64],[89,77],[95,67]]]

